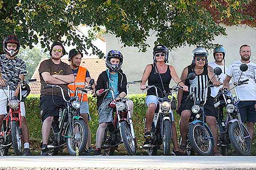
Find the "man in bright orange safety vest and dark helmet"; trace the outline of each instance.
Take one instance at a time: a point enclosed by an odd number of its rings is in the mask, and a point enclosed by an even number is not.
[[[81,60],[82,60],[82,53],[79,50],[77,49],[70,50],[68,55],[68,61],[71,62],[70,67],[75,76],[75,82],[68,85],[70,96],[75,95],[76,87],[81,87],[81,88],[85,87],[85,83],[89,83],[91,79],[89,71],[86,68],[80,66]],[[95,83],[92,85],[93,89],[95,88],[95,85],[96,85]],[[86,94],[84,94],[82,97],[80,93],[78,95],[80,97],[80,100],[82,98],[80,113],[82,118],[84,118],[85,124],[87,125],[87,128],[88,128],[86,154],[90,154],[90,152],[93,151],[93,148],[91,147],[92,140],[91,140],[90,127],[88,122],[90,120],[88,97]]]

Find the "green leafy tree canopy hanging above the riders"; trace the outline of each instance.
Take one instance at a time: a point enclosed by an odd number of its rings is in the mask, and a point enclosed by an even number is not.
[[[102,26],[106,32],[120,37],[128,46],[146,50],[146,39],[154,31],[161,43],[169,48],[183,44],[212,47],[210,41],[226,35],[225,28],[214,20],[209,10],[217,11],[217,18],[239,24],[245,19],[243,10],[250,0],[0,0],[0,36],[15,33],[23,47],[40,42],[43,48],[51,41],[61,40],[93,53],[102,54],[91,43],[92,37],[77,33],[79,25],[91,27],[96,35]],[[255,22],[255,20],[253,20]],[[90,33],[93,35],[93,33]],[[64,37],[64,38],[63,38]]]

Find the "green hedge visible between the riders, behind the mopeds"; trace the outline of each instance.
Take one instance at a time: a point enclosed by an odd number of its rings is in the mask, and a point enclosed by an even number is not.
[[[144,135],[144,124],[143,118],[145,117],[145,113],[147,107],[145,105],[145,94],[138,95],[130,95],[130,99],[134,102],[134,114],[133,114],[133,123],[135,129],[135,135],[137,137],[138,146],[143,144],[143,135]],[[89,112],[92,117],[92,121],[90,121],[90,130],[92,132],[92,144],[95,143],[96,140],[96,131],[98,128],[98,112],[96,108],[96,97],[92,97],[89,95]],[[28,122],[28,129],[30,133],[31,141],[41,141],[41,127],[42,122],[40,118],[40,108],[39,108],[39,96],[38,95],[30,95],[27,97],[26,101],[26,117]],[[177,133],[179,136],[179,119],[180,116],[174,113]],[[255,130],[256,133],[256,130]],[[253,155],[256,155],[255,151],[255,141],[253,142]]]

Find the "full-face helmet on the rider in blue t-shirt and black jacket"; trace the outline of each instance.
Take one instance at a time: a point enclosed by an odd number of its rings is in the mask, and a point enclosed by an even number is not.
[[[110,62],[111,58],[119,58],[120,62],[118,65],[112,65]],[[106,67],[108,67],[109,71],[112,72],[117,72],[118,70],[121,69],[122,63],[123,63],[123,54],[119,52],[118,50],[110,50],[108,54],[106,55]]]

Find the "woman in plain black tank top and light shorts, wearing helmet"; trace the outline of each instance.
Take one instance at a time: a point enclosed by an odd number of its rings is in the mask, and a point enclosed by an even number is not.
[[[154,63],[148,64],[146,66],[146,69],[144,70],[144,73],[142,75],[142,83],[141,83],[141,89],[144,90],[146,88],[146,82],[148,80],[148,86],[155,85],[160,90],[158,91],[159,97],[164,97],[163,92],[169,92],[169,84],[171,82],[171,79],[174,79],[175,83],[180,82],[179,77],[177,76],[177,73],[173,66],[167,65],[166,62],[168,62],[168,48],[164,45],[156,45],[153,49],[153,61]],[[161,79],[160,79],[160,76]],[[163,89],[163,86],[164,89]],[[184,85],[183,82],[179,83],[180,86],[183,87],[184,91],[188,91],[188,87]],[[144,142],[144,145],[148,145],[148,142],[151,138],[151,125],[154,118],[155,109],[158,105],[158,99],[155,94],[154,89],[149,89],[147,91],[146,96],[146,104],[147,104],[147,112],[146,112],[146,132],[144,134],[144,138],[146,138],[146,142]],[[174,116],[172,115],[172,142],[174,144],[174,150],[172,151],[173,155],[180,155],[181,152],[179,151],[178,145],[177,145],[177,131],[175,128],[175,122],[174,122]]]

